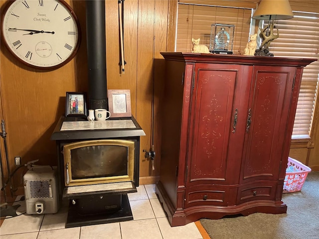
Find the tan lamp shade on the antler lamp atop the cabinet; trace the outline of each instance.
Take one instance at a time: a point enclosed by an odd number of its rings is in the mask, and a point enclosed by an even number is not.
[[[260,20],[289,19],[294,14],[289,4],[289,0],[261,0],[253,14],[254,19]]]

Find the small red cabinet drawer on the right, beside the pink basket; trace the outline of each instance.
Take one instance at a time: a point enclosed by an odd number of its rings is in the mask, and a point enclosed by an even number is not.
[[[277,182],[254,182],[238,188],[237,204],[253,200],[274,200]]]

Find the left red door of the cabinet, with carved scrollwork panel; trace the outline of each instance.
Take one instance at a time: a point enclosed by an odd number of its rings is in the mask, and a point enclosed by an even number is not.
[[[188,185],[238,183],[248,106],[248,97],[240,97],[249,95],[250,84],[243,80],[243,75],[251,79],[249,70],[240,65],[195,64]]]

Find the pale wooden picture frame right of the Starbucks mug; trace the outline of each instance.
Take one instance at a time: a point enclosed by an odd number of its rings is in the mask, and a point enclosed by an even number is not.
[[[132,116],[130,90],[108,90],[108,98],[111,118]]]

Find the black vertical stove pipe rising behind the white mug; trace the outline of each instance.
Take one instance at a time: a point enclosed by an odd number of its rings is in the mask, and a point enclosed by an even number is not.
[[[88,109],[107,109],[105,0],[86,1]]]

